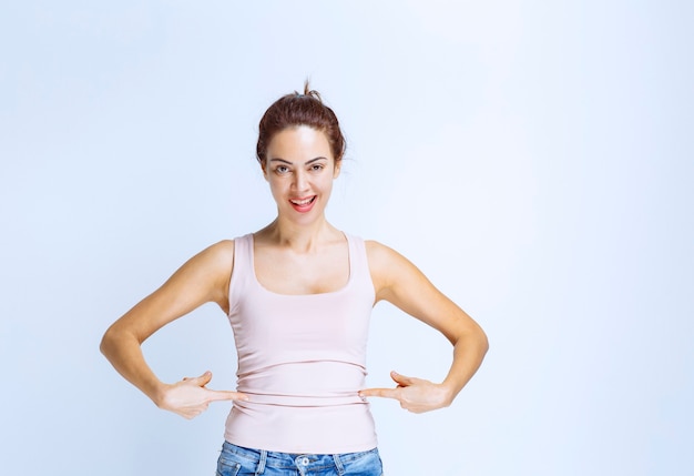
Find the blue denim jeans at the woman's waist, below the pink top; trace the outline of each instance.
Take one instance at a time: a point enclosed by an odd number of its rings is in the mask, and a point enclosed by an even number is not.
[[[378,449],[343,455],[294,455],[224,442],[217,476],[381,476]]]

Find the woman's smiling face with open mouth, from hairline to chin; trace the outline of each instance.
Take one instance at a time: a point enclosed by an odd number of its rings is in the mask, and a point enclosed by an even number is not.
[[[293,221],[323,216],[339,175],[339,163],[322,131],[307,125],[285,129],[267,146],[263,173],[269,183],[277,212]]]

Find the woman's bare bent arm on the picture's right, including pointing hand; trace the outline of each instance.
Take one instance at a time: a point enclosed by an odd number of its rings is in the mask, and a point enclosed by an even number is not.
[[[367,254],[376,301],[388,301],[441,332],[453,345],[453,359],[440,384],[394,372],[395,388],[367,388],[360,395],[396,398],[415,413],[450,405],[482,363],[487,335],[402,255],[377,242],[367,242]]]

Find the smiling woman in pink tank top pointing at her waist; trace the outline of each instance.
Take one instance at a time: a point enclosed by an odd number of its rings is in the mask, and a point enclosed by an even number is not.
[[[185,418],[233,401],[220,475],[378,476],[367,397],[395,398],[415,413],[448,406],[481,364],[487,337],[404,256],[327,222],[345,140],[308,84],[265,112],[256,152],[277,217],[192,257],[106,331],[101,350],[159,407]],[[443,382],[394,372],[394,388],[364,388],[369,316],[382,300],[451,342]],[[207,302],[234,330],[235,392],[207,388],[208,372],[163,383],[141,351],[159,328]]]

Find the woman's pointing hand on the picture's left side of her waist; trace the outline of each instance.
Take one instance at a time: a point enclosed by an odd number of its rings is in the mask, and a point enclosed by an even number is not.
[[[212,373],[205,372],[200,377],[183,378],[175,384],[165,385],[156,405],[184,418],[191,419],[207,409],[211,402],[239,399],[248,396],[239,392],[212,391],[205,385],[212,379]]]

